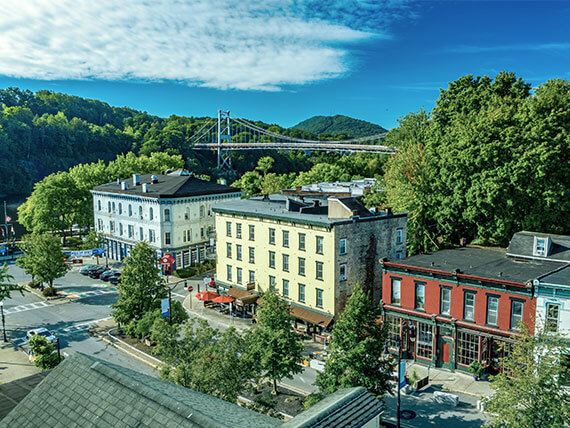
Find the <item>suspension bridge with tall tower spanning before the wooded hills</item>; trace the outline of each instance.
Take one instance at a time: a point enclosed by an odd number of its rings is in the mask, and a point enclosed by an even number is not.
[[[231,168],[233,150],[310,150],[326,152],[396,153],[395,147],[377,144],[386,132],[349,140],[306,140],[271,132],[245,119],[230,117],[218,110],[218,119],[209,118],[191,137],[195,150],[216,150],[218,168]],[[376,144],[375,144],[376,143]]]

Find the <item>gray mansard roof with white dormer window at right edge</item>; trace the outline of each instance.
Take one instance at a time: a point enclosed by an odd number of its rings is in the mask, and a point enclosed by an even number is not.
[[[548,255],[533,255],[535,236],[551,239],[552,246],[550,247]],[[570,236],[528,231],[517,232],[513,235],[511,242],[509,242],[507,255],[512,257],[534,258],[537,260],[553,260],[570,263]]]

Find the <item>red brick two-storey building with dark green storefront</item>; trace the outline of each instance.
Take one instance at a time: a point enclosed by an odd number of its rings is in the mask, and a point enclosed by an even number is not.
[[[519,322],[534,329],[532,281],[557,266],[472,247],[381,263],[390,348],[401,337],[405,358],[453,371],[479,361],[490,373]]]

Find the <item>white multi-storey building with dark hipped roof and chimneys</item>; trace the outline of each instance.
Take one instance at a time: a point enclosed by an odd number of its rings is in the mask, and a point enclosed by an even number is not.
[[[174,269],[205,259],[215,237],[211,206],[241,197],[239,189],[182,170],[134,174],[132,181],[118,179],[91,193],[95,228],[105,236],[109,258],[122,260],[137,242],[146,241],[157,257],[171,254]]]

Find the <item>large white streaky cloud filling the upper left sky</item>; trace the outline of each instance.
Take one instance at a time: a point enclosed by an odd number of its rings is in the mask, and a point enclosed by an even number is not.
[[[279,90],[350,70],[406,0],[2,0],[0,75]]]

